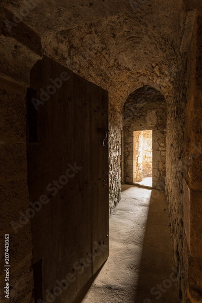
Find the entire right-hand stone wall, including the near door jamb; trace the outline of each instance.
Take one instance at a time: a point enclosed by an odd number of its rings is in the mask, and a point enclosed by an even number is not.
[[[168,106],[167,123],[166,192],[178,270],[179,297],[183,303],[202,301],[202,277],[198,270],[202,264],[201,111],[199,113],[201,19],[194,15],[194,11],[187,14],[180,48],[181,70],[179,68],[174,97]]]

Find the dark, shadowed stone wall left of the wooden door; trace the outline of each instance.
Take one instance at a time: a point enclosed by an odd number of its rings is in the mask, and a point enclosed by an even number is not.
[[[22,216],[29,206],[25,97],[27,87],[29,87],[30,69],[35,61],[40,59],[40,56],[28,51],[24,45],[15,39],[0,37],[0,41],[6,43],[11,52],[15,53],[15,67],[11,65],[10,60],[12,58],[5,56],[0,74],[0,112],[2,117],[0,122],[0,240],[3,248],[4,235],[10,235],[11,265],[10,299],[5,298],[4,291],[1,291],[0,300],[1,302],[9,301],[11,303],[32,303],[34,300],[32,297],[31,226],[30,222],[24,220]],[[15,52],[16,50],[20,50],[20,52]],[[24,60],[27,60],[26,68]],[[1,254],[3,256],[3,250],[1,250]],[[6,285],[3,266],[1,266],[0,279],[2,290]]]

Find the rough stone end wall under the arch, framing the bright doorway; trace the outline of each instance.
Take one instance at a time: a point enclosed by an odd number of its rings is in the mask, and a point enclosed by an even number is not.
[[[133,131],[153,130],[153,187],[164,190],[167,119],[164,96],[149,86],[139,88],[128,97],[123,113],[125,182],[134,183],[136,163],[134,163]]]

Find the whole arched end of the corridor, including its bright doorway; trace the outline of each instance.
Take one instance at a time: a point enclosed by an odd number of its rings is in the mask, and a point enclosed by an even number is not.
[[[152,162],[152,186],[165,190],[166,100],[163,94],[148,85],[138,88],[128,96],[123,107],[123,117],[124,183],[141,181],[143,162],[148,166]],[[152,149],[147,146],[148,137],[152,140]]]

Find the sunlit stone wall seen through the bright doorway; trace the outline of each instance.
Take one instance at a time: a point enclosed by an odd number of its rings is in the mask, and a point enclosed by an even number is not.
[[[152,176],[152,132],[142,132],[142,176]],[[162,157],[160,157],[161,159]]]

